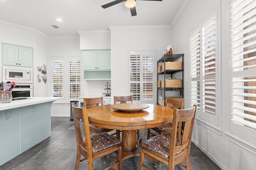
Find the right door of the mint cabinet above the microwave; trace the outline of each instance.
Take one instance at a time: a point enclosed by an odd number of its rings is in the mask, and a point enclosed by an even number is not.
[[[33,67],[33,49],[19,47],[19,66]]]

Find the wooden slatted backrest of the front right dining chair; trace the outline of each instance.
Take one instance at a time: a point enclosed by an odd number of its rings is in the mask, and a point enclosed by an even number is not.
[[[178,162],[178,160],[183,160],[184,158],[186,158],[187,154],[190,154],[190,145],[195,115],[196,105],[194,105],[190,109],[174,109],[172,120],[172,137],[170,144],[169,166],[172,162],[175,164],[176,161]],[[184,122],[184,129],[181,145],[176,146],[176,135],[179,122]],[[176,152],[180,153],[175,155]]]

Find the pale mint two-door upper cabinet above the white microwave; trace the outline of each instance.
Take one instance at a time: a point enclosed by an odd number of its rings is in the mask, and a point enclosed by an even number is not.
[[[33,67],[33,48],[2,44],[3,65]]]

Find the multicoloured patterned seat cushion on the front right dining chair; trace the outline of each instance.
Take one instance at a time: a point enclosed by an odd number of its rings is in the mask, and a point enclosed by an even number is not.
[[[148,139],[147,141],[142,142],[141,146],[145,147],[149,150],[152,150],[158,154],[161,154],[161,155],[165,156],[166,158],[169,158],[170,144],[171,144],[170,138],[167,138],[167,137],[161,136],[161,135],[157,135],[155,137],[152,137],[151,139]],[[178,145],[180,145],[180,143],[176,142],[176,146],[178,146]],[[175,155],[179,154],[181,151],[176,152]]]

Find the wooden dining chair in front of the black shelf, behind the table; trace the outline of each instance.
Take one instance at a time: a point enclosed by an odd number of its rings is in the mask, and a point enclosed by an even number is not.
[[[180,98],[166,98],[166,106],[171,107],[172,109],[184,109],[184,99]],[[181,141],[181,127],[182,123],[178,123],[178,142]],[[167,125],[159,126],[151,128],[153,131],[157,132],[160,135],[165,135],[167,137],[168,134],[172,133],[172,123],[168,123]],[[150,132],[150,129],[148,129],[148,139],[151,136],[156,136],[153,133]]]

